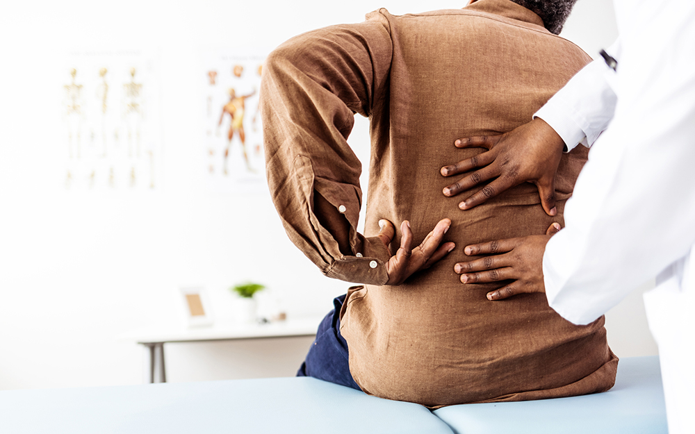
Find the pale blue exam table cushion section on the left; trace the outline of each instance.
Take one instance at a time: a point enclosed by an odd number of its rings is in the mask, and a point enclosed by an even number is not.
[[[452,434],[430,410],[316,378],[0,391],[3,434]]]

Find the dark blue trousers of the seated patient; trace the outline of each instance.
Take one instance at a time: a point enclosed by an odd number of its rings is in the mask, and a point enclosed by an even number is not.
[[[316,332],[316,340],[311,344],[309,353],[297,376],[309,376],[330,383],[361,390],[350,374],[347,364],[347,342],[341,336],[341,308],[345,295],[333,299],[334,309],[328,312]]]

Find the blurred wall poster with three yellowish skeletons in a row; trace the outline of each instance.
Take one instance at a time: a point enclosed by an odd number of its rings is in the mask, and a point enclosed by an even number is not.
[[[152,56],[140,51],[70,53],[59,70],[67,190],[159,187],[161,127]]]

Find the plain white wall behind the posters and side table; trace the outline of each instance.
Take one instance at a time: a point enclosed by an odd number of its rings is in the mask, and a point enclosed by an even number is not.
[[[464,1],[358,0],[6,2],[0,15],[0,389],[142,381],[143,351],[117,335],[179,322],[181,285],[218,306],[238,281],[263,281],[289,315],[318,315],[345,283],[324,278],[288,242],[267,193],[206,190],[193,119],[201,110],[197,51],[272,48],[292,35],[365,12],[460,8]],[[566,37],[591,55],[615,36],[610,2],[580,0]],[[146,49],[161,72],[164,187],[143,194],[63,188],[58,137],[63,56],[75,49]],[[366,121],[351,142],[364,155]],[[250,211],[249,211],[250,210]],[[655,353],[624,324],[644,324],[641,301],[612,328],[622,355]],[[220,309],[218,309],[220,310]],[[224,313],[224,309],[222,309]],[[612,331],[610,333],[613,333]],[[611,335],[613,338],[613,335]],[[293,375],[311,340],[167,346],[170,381]]]

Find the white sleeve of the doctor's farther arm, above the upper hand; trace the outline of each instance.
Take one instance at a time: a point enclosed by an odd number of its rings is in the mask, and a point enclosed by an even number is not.
[[[620,41],[617,40],[607,51],[619,59]],[[616,105],[614,75],[603,59],[594,60],[534,114],[562,137],[566,152],[580,143],[591,147],[610,124]]]

